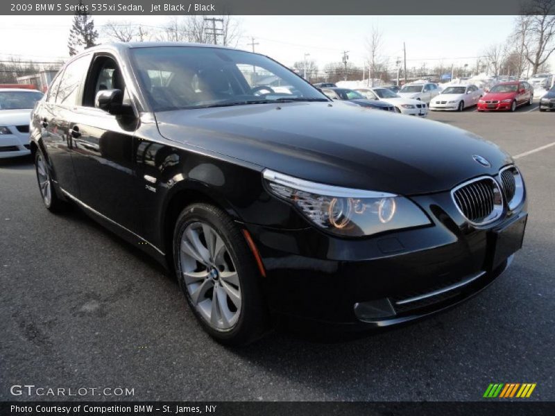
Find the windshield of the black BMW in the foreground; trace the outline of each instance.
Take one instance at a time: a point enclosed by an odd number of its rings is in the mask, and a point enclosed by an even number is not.
[[[154,111],[288,101],[328,101],[289,69],[263,55],[197,46],[131,49]]]

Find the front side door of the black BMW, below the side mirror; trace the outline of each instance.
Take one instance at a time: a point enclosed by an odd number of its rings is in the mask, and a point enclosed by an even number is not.
[[[97,92],[121,89],[126,96],[125,84],[117,61],[111,55],[97,53],[85,80],[81,105],[72,112],[69,128],[74,135],[73,156],[80,200],[140,234],[141,224],[133,215],[138,186],[133,141],[138,119],[114,116],[94,107]],[[126,100],[130,103],[129,98]]]

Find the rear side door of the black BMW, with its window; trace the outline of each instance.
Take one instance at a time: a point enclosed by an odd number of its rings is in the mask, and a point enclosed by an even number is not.
[[[90,59],[91,55],[83,55],[67,64],[53,80],[40,114],[42,142],[46,147],[53,178],[60,188],[76,198],[80,190],[73,164],[74,144],[68,116],[76,105]]]

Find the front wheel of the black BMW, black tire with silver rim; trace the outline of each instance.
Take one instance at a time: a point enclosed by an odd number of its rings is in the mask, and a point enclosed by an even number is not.
[[[183,209],[173,232],[173,259],[191,311],[212,338],[246,345],[264,335],[268,313],[260,272],[228,214],[204,203]]]

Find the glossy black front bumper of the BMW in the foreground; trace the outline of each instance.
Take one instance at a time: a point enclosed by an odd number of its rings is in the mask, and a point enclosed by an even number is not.
[[[493,262],[493,227],[459,220],[448,193],[412,199],[427,207],[433,226],[348,240],[247,225],[271,310],[343,329],[388,327],[462,302],[506,269],[509,258]],[[495,228],[525,220],[525,211],[523,202]]]

